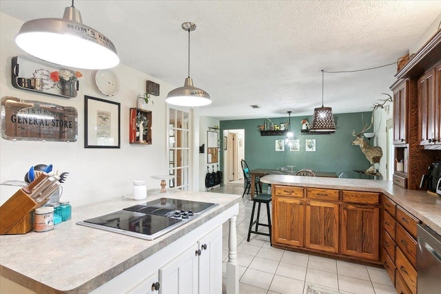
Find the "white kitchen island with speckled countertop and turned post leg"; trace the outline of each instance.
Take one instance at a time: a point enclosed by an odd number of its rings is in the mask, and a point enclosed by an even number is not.
[[[146,200],[116,198],[73,207],[72,220],[53,231],[1,235],[0,293],[159,293],[155,286],[161,293],[222,293],[222,224],[227,220],[227,293],[238,293],[240,196],[158,191],[149,191]],[[76,224],[161,197],[219,205],[152,241]]]

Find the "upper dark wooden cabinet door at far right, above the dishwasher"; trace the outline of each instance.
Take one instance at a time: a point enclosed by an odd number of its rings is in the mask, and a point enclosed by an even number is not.
[[[435,68],[418,78],[418,138],[420,145],[433,145],[438,142],[435,134]],[[439,107],[439,106],[438,106]]]

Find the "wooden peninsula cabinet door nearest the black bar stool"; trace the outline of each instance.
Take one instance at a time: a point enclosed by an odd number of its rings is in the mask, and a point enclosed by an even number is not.
[[[276,189],[285,191],[285,189]],[[272,242],[302,247],[305,228],[304,200],[280,196],[273,198]]]

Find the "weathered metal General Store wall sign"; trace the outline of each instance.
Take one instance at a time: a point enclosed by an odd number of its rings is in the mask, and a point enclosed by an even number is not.
[[[75,142],[78,112],[40,101],[1,98],[1,137],[6,140]]]

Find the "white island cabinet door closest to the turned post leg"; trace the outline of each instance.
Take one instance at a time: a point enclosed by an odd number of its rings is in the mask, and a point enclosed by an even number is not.
[[[222,293],[222,227],[198,241],[199,294]]]

